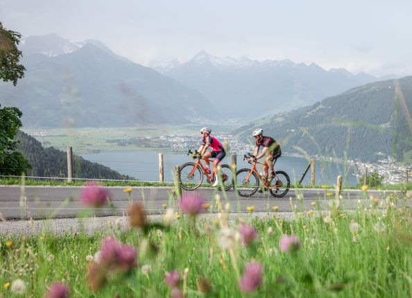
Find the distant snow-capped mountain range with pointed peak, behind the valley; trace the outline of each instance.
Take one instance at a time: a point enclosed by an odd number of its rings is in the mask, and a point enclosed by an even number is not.
[[[291,60],[218,58],[200,51],[181,63],[151,67],[205,95],[214,107],[229,117],[257,117],[314,104],[350,88],[379,81],[363,72],[354,75],[345,69],[323,69],[315,63]],[[388,79],[388,76],[380,79]]]

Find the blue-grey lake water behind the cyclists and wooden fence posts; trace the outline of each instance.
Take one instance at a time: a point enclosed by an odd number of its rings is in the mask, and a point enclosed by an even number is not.
[[[135,177],[143,181],[158,181],[159,179],[159,153],[157,151],[102,151],[96,154],[83,154],[86,160],[100,163],[106,167],[116,170],[117,172]],[[175,165],[182,165],[192,161],[187,154],[163,154],[164,160],[164,181],[173,181]],[[222,163],[231,163],[231,157],[226,156]],[[275,163],[275,169],[283,170],[291,177],[291,182],[299,181],[304,169],[308,165],[304,158],[295,156],[282,156]],[[250,167],[243,161],[243,154],[237,157],[237,169]],[[261,166],[259,166],[261,172]],[[316,160],[316,184],[317,185],[334,185],[336,177],[343,176],[343,184],[355,185],[358,180],[353,175],[355,170],[352,167],[337,163],[320,162]],[[307,172],[302,184],[311,183],[311,169]]]

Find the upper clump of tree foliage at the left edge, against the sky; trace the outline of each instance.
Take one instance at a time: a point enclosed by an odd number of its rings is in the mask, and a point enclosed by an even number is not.
[[[22,51],[17,49],[17,44],[22,38],[18,32],[3,28],[0,22],[0,78],[3,81],[12,81],[13,85],[24,76],[26,68],[19,64]]]

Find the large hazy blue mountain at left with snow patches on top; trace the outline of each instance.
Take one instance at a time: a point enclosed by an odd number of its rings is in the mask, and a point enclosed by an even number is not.
[[[24,126],[187,123],[200,117],[205,105],[211,106],[198,91],[99,42],[80,47],[57,35],[44,39],[44,50],[42,38],[24,40],[26,73],[17,86],[0,83],[1,104],[20,108]],[[212,119],[218,117],[214,108],[209,110]]]

